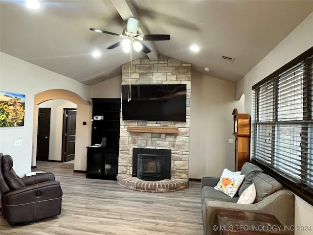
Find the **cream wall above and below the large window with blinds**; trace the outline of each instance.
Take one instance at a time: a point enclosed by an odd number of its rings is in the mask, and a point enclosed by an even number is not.
[[[236,96],[245,94],[245,112],[251,114],[252,86],[293,58],[313,47],[313,13],[299,24],[277,47],[237,83]],[[313,229],[313,206],[295,197],[295,225]],[[311,235],[312,231],[295,231],[295,235]]]

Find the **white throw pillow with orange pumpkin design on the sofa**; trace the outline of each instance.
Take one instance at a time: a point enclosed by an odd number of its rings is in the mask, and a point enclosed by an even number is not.
[[[236,174],[225,168],[219,183],[214,188],[230,197],[234,197],[244,178],[245,175]]]

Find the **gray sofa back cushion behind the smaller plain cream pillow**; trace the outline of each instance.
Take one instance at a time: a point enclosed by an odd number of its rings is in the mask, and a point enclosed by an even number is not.
[[[252,180],[255,185],[255,202],[260,202],[268,195],[282,189],[283,186],[275,179],[265,173],[257,173]]]

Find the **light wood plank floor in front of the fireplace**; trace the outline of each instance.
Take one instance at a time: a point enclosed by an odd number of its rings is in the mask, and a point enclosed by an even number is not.
[[[37,162],[63,190],[61,215],[26,226],[0,216],[0,235],[202,235],[200,182],[167,193],[123,188],[116,181],[86,179],[73,164]]]

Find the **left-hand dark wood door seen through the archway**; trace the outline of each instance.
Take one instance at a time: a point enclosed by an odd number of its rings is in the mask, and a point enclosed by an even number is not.
[[[51,108],[39,108],[37,129],[37,161],[49,160]]]

